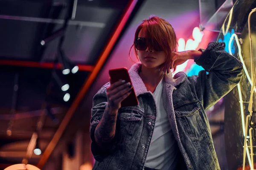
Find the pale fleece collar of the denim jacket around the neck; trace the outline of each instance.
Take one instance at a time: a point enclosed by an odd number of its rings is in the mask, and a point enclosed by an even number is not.
[[[131,66],[129,70],[129,75],[131,77],[131,83],[134,87],[134,91],[137,96],[140,94],[148,93],[145,84],[143,83],[142,79],[140,78],[139,72],[141,69],[141,62],[138,62]],[[186,74],[184,72],[179,72],[172,77],[172,72],[169,74],[164,75],[164,81],[167,85],[172,85],[177,87],[180,83],[182,83],[186,79]]]

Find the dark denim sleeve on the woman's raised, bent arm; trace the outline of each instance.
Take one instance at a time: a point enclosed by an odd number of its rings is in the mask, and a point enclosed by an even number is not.
[[[229,93],[243,74],[242,63],[224,48],[224,42],[210,42],[207,49],[202,50],[201,57],[195,60],[205,70],[200,71],[198,76],[188,77],[205,110]]]

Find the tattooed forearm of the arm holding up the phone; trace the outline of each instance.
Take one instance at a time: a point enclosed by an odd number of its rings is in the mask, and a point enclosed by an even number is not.
[[[97,143],[108,143],[115,136],[116,131],[116,116],[111,116],[106,109],[102,119],[95,130],[95,140]]]

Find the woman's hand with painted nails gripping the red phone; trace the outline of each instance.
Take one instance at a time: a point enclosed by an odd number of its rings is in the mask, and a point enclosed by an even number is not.
[[[131,94],[132,88],[131,83],[125,80],[114,82],[107,88],[108,108],[112,111],[110,113],[117,113],[121,102]]]

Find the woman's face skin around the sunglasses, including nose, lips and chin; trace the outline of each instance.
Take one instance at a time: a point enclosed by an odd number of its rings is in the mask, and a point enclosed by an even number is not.
[[[138,37],[145,37],[145,34],[140,31]],[[140,62],[146,68],[158,68],[166,61],[166,54],[164,51],[149,50],[148,47],[145,50],[138,50],[138,55]]]

